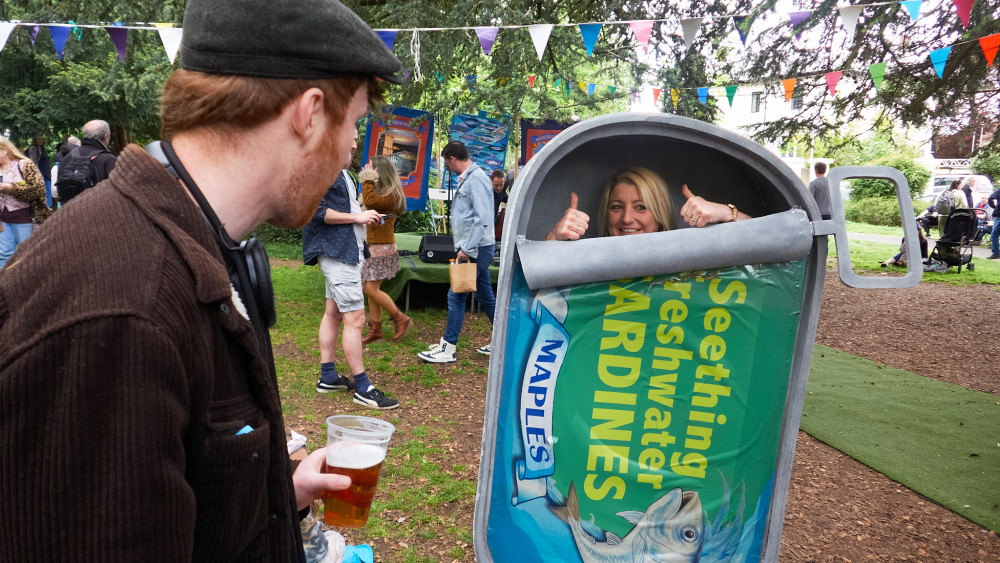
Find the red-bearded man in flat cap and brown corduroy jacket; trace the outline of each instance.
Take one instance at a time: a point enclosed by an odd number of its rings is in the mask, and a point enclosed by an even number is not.
[[[267,260],[234,241],[310,219],[399,61],[335,0],[183,28],[167,142],[0,274],[0,561],[302,561],[300,511],[349,484],[324,449],[290,470]]]

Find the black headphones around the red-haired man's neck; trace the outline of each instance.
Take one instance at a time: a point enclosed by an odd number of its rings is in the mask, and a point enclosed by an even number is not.
[[[264,245],[256,237],[237,244],[229,236],[169,142],[153,141],[146,145],[146,152],[159,161],[173,177],[183,181],[198,202],[201,214],[211,228],[212,236],[215,237],[215,242],[226,261],[229,280],[246,303],[250,322],[254,325],[257,338],[261,342],[261,351],[265,358],[269,357],[270,337],[267,329],[274,326],[277,314],[274,306],[274,286],[271,283],[271,265]]]

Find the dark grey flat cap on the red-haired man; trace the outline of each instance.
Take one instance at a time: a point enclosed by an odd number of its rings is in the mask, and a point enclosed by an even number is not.
[[[367,23],[336,0],[188,0],[181,67],[262,78],[372,74],[401,65]]]

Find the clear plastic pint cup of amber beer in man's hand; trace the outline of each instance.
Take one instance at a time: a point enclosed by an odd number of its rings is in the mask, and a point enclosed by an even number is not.
[[[368,523],[382,462],[395,430],[392,424],[367,416],[337,415],[326,419],[323,472],[351,478],[350,488],[327,491],[323,496],[323,521],[327,525],[361,528]]]

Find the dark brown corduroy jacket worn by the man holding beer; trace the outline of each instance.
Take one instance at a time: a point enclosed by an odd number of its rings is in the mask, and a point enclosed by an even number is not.
[[[303,558],[273,368],[135,145],[0,271],[0,507],[0,561]]]

